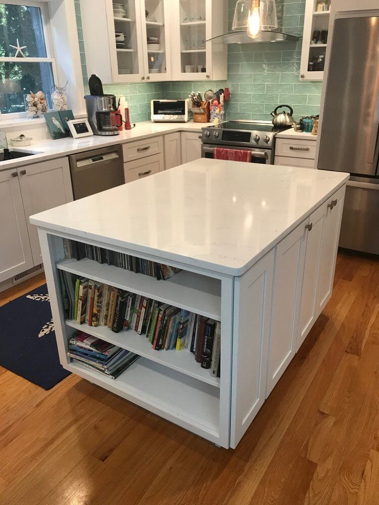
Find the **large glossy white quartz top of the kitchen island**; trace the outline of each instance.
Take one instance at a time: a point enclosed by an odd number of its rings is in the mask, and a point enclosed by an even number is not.
[[[341,172],[202,158],[30,222],[240,276],[348,179]]]

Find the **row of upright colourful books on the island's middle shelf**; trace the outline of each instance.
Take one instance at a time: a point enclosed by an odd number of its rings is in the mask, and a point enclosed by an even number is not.
[[[202,368],[220,376],[220,323],[152,298],[58,270],[65,318],[115,333],[144,334],[155,350],[192,352]]]

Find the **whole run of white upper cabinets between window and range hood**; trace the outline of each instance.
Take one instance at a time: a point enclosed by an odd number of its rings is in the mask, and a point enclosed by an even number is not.
[[[88,75],[104,83],[226,79],[226,0],[80,0]],[[180,43],[179,43],[180,41]]]

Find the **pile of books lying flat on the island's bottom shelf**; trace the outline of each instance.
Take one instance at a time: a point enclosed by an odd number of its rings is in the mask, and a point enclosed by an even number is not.
[[[67,355],[80,365],[115,379],[139,356],[79,331],[70,339]]]

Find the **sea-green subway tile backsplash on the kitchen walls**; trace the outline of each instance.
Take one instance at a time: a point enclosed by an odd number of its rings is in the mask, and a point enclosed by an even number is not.
[[[229,0],[229,28],[236,0]],[[302,34],[305,0],[276,0],[279,26],[290,33]],[[82,62],[83,80],[88,77],[80,19],[80,1],[75,0],[75,12]],[[259,42],[229,44],[227,81],[158,82],[141,84],[106,84],[104,91],[123,94],[130,104],[132,122],[150,119],[152,98],[187,98],[191,91],[228,85],[231,96],[225,105],[227,119],[270,120],[269,113],[282,103],[294,109],[295,118],[318,114],[321,82],[300,81],[301,39],[298,42]]]

